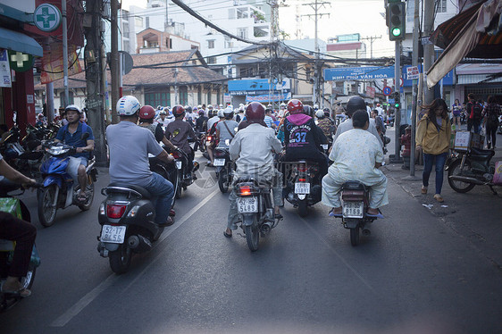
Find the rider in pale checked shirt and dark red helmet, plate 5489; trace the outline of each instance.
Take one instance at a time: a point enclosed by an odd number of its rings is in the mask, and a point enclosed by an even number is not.
[[[272,183],[274,215],[276,219],[282,218],[279,206],[282,203],[282,174],[273,166],[272,153],[279,153],[282,146],[279,139],[275,138],[273,129],[264,127],[265,108],[259,102],[247,105],[246,118],[250,124],[246,129],[239,130],[230,144],[230,156],[237,159],[236,180],[243,176],[263,178]],[[237,230],[238,221],[237,194],[235,188],[229,196],[230,208],[227,230],[223,235],[232,236],[232,230]]]

